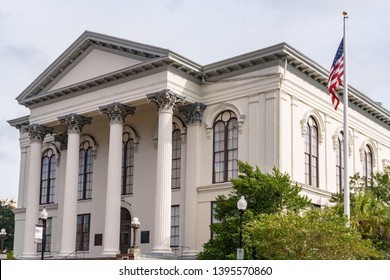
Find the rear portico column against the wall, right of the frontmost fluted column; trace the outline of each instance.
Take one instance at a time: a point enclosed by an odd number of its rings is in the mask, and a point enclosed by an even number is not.
[[[201,125],[202,115],[206,105],[194,103],[180,107],[179,112],[185,115],[187,126],[187,161],[186,191],[185,191],[185,217],[184,217],[184,246],[183,257],[195,259],[198,251],[196,248],[197,231],[197,187],[200,178],[200,153],[201,150]]]

